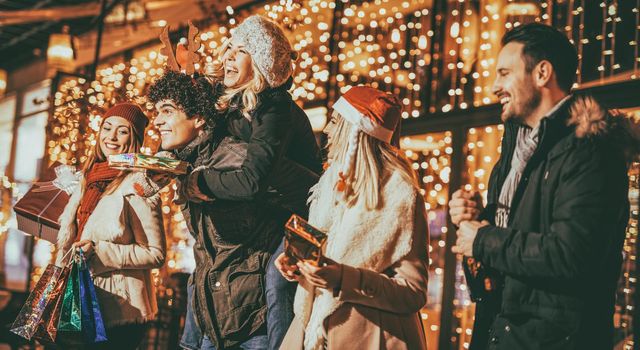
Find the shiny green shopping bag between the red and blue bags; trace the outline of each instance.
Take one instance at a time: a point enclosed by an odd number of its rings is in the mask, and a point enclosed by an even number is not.
[[[82,331],[82,313],[80,310],[80,271],[79,257],[74,254],[67,286],[64,289],[58,331]]]

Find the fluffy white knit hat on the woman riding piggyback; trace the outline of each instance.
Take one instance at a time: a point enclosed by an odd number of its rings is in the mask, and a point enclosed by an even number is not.
[[[289,79],[293,73],[295,52],[279,25],[254,15],[235,29],[233,37],[242,41],[269,86],[278,87]]]

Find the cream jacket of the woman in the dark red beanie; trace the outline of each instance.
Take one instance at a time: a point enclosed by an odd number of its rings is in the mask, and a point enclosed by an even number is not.
[[[142,185],[149,197],[136,194]],[[107,328],[155,319],[158,312],[151,269],[164,264],[166,241],[160,195],[142,173],[131,173],[104,195],[87,219],[82,237],[95,243],[88,261]],[[76,190],[62,215],[56,264],[76,241],[76,212],[83,190]]]

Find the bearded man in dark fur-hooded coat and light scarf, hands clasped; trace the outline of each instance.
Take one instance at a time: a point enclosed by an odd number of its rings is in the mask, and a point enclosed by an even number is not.
[[[501,277],[478,303],[471,348],[611,349],[629,134],[569,94],[577,55],[564,34],[528,24],[502,44],[493,89],[505,133],[487,206],[465,191],[450,202],[453,251]]]

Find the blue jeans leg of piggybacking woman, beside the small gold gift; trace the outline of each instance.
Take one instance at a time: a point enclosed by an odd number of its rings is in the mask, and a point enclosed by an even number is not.
[[[293,299],[296,294],[295,282],[289,282],[278,271],[275,259],[284,251],[284,240],[273,253],[267,264],[267,335],[269,350],[277,350],[293,320]]]

